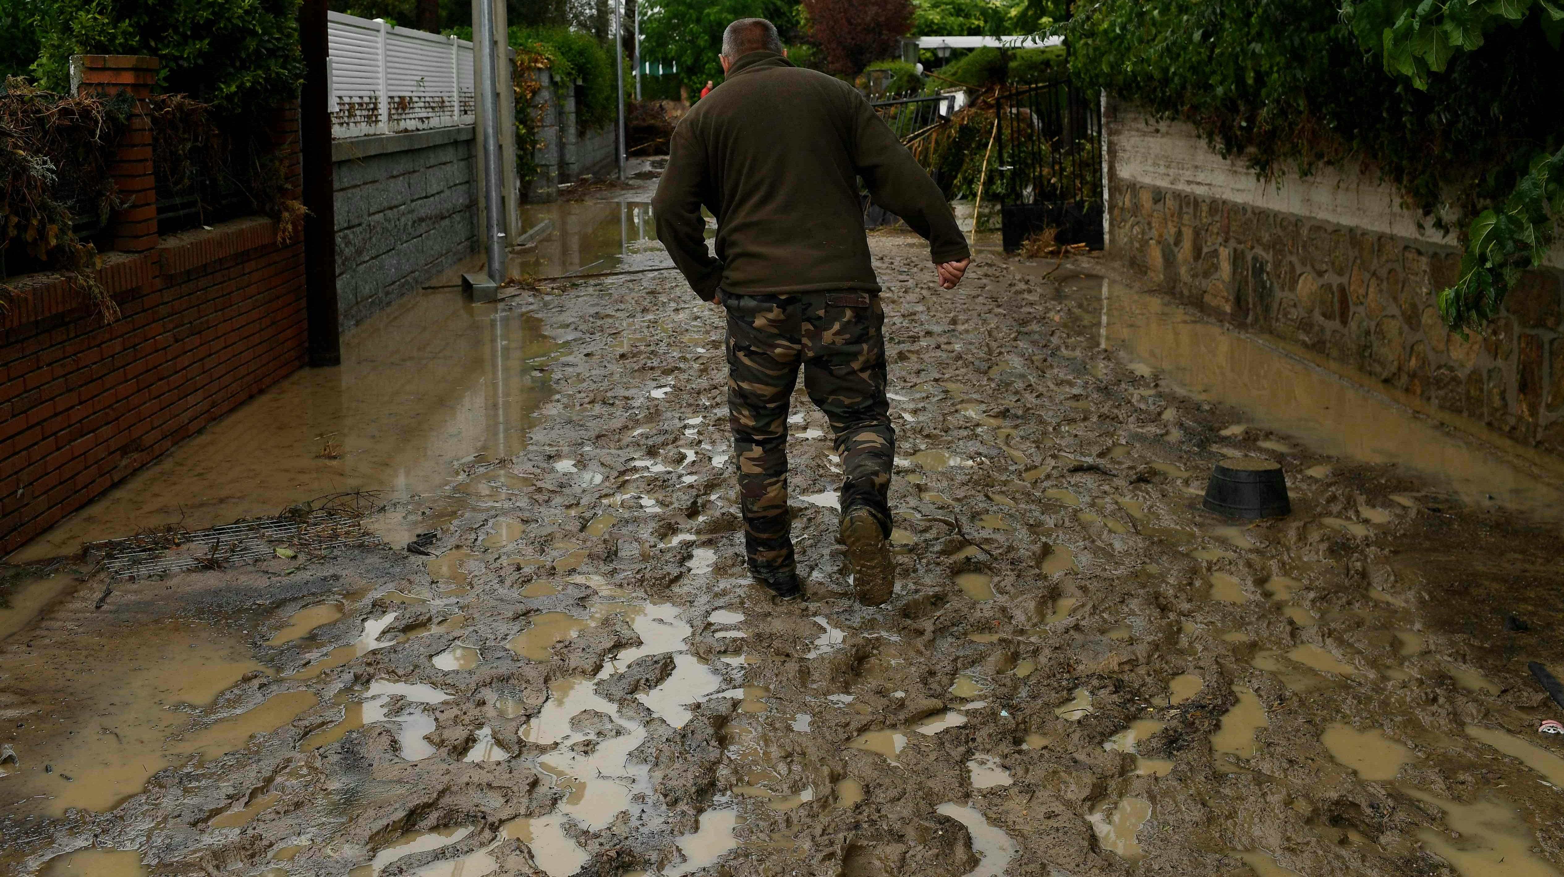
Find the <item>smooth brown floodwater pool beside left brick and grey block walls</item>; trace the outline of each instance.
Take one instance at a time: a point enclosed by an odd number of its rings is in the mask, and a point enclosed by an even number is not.
[[[264,517],[328,494],[432,494],[455,463],[526,444],[557,344],[536,317],[414,292],[343,336],[343,364],[300,369],[141,469],[9,560],[183,524]]]

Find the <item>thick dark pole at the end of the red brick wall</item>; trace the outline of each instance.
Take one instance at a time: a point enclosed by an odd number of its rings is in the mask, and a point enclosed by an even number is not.
[[[303,91],[299,97],[299,161],[303,166],[303,277],[310,364],[343,361],[336,314],[336,209],[332,186],[332,116],[325,56],[325,0],[299,6]]]

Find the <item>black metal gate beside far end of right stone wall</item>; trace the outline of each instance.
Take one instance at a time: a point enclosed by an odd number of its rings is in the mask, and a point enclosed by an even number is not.
[[[1004,249],[1034,231],[1059,244],[1103,249],[1103,113],[1095,92],[1068,81],[998,98],[992,191],[999,199]]]

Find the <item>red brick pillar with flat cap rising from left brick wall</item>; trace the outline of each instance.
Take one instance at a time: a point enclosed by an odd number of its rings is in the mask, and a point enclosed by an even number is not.
[[[72,55],[70,80],[77,94],[152,97],[158,78],[158,59],[145,55]],[[152,123],[144,113],[135,113],[125,136],[114,149],[109,174],[120,200],[130,206],[116,209],[108,219],[109,249],[139,253],[158,245],[158,192],[152,178]]]

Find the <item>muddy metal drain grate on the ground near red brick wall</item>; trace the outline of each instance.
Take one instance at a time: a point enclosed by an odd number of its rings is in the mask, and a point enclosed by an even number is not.
[[[274,557],[278,542],[322,552],[343,546],[378,546],[380,536],[364,530],[357,517],[316,510],[303,521],[261,517],[210,530],[144,533],[88,542],[84,550],[102,557],[102,569],[114,578],[139,578],[256,561]]]

